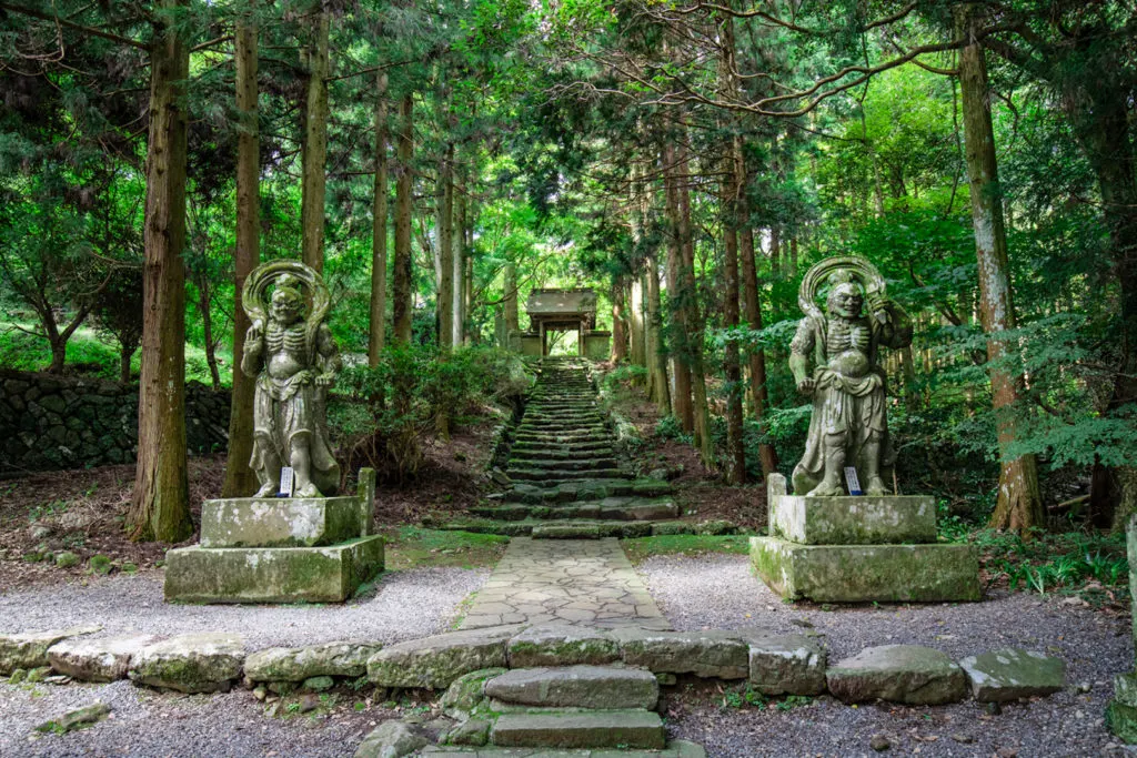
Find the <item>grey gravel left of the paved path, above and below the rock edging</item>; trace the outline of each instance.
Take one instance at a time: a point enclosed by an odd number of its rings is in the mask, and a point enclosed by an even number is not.
[[[333,640],[391,643],[449,628],[458,605],[488,576],[488,569],[392,572],[345,606],[176,606],[163,602],[161,573],[153,572],[0,594],[0,631],[97,623],[100,634],[233,632],[249,650]],[[36,724],[94,700],[111,707],[111,718],[61,736],[30,736]],[[182,695],[130,682],[0,684],[0,756],[347,757],[376,719],[399,715],[370,707],[356,713],[343,702],[331,713],[267,718],[264,708],[248,690]]]

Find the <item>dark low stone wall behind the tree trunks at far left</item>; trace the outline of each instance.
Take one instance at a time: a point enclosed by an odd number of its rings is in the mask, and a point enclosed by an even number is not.
[[[0,476],[128,464],[138,448],[138,385],[0,369]],[[191,453],[229,443],[227,391],[185,388]]]

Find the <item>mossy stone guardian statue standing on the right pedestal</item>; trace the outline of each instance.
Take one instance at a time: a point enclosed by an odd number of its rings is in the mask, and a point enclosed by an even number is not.
[[[822,314],[816,295],[827,280],[831,289]],[[865,494],[886,494],[882,473],[895,455],[878,352],[882,345],[912,344],[912,323],[885,297],[877,268],[855,256],[828,258],[811,268],[802,280],[798,305],[805,318],[790,343],[789,367],[798,391],[813,399],[813,415],[805,455],[794,468],[794,492],[814,498],[845,494],[841,475],[853,466]]]

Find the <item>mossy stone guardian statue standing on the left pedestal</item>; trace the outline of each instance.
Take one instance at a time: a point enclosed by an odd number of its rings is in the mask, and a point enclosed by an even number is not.
[[[266,300],[269,285],[272,297]],[[293,260],[259,266],[244,282],[241,305],[252,325],[244,336],[241,370],[257,381],[249,463],[260,482],[255,497],[276,494],[284,466],[293,472],[293,497],[319,498],[339,486],[326,400],[341,363],[327,328],[329,301],[319,274]]]

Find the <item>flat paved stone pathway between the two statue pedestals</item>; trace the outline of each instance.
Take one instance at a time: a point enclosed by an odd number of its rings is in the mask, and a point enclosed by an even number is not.
[[[459,628],[522,623],[671,628],[611,538],[514,538]]]

